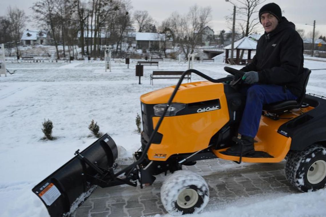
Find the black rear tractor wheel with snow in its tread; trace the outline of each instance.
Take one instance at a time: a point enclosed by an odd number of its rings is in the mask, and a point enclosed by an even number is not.
[[[292,153],[285,165],[285,176],[299,191],[322,189],[326,185],[326,148],[312,145]]]

